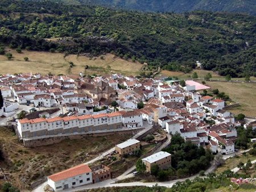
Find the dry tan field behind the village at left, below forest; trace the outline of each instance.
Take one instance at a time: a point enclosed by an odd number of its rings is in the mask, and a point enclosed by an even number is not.
[[[6,48],[6,53],[12,53],[13,59],[7,60],[6,56],[0,55],[1,73],[37,73],[48,74],[75,74],[80,72],[84,74],[105,74],[105,73],[123,73],[134,74],[139,73],[142,64],[137,62],[126,61],[108,54],[102,57],[93,57],[90,59],[86,56],[68,55],[64,57],[63,53],[36,52],[23,50],[17,53],[13,49]],[[24,61],[24,57],[28,57],[29,61]],[[69,67],[69,62],[73,62],[75,66]],[[94,66],[98,69],[87,69],[85,66]]]

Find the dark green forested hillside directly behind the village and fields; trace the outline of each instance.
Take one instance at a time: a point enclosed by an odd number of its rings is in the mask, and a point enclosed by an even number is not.
[[[112,52],[183,72],[201,61],[205,69],[232,77],[256,72],[255,16],[203,11],[152,14],[1,0],[0,18],[0,43],[11,48],[80,55]],[[45,40],[53,37],[63,39]],[[4,54],[1,47],[0,53]]]

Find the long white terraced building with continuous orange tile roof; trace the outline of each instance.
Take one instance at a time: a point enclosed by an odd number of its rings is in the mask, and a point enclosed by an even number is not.
[[[22,119],[17,122],[20,139],[38,139],[55,135],[73,133],[93,133],[122,128],[122,115],[119,112],[110,114],[65,116],[64,118]]]

